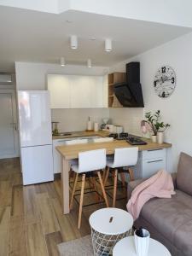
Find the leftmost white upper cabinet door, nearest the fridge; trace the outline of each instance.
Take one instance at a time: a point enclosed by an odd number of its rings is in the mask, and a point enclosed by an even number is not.
[[[49,74],[48,90],[50,92],[50,108],[70,108],[70,76]]]

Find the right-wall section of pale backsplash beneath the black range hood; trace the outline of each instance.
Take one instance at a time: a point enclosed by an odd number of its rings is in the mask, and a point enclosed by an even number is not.
[[[124,131],[138,136],[142,135],[140,124],[144,108],[110,108],[109,116],[114,125],[122,125]]]

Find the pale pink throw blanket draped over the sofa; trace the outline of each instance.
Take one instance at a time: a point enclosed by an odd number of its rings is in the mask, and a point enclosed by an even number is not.
[[[135,220],[149,199],[153,197],[171,198],[175,194],[172,176],[168,172],[160,170],[132,191],[131,199],[126,207]]]

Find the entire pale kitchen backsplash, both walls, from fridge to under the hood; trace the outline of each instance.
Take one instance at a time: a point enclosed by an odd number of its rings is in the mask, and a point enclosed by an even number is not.
[[[140,123],[143,108],[83,108],[51,109],[52,121],[60,122],[59,131],[84,131],[88,117],[92,122],[102,124],[102,118],[110,118],[113,125],[122,125],[124,131],[142,135]]]

